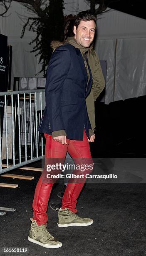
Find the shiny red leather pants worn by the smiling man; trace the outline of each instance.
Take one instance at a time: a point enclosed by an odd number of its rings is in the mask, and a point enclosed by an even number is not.
[[[79,159],[82,164],[87,163],[89,159],[90,164],[92,162],[92,156],[90,153],[89,142],[84,131],[83,141],[73,141],[67,139],[67,144],[62,145],[61,143],[54,141],[52,136],[45,134],[46,145],[45,145],[45,158],[47,159],[64,159],[66,157],[67,151],[74,159],[74,163],[77,164]],[[86,163],[84,162],[86,161]],[[64,196],[62,199],[62,209],[69,208],[72,212],[77,212],[76,204],[77,198],[84,186],[85,179],[82,179],[81,183],[68,183],[65,189]],[[45,183],[40,177],[36,189],[35,196],[33,200],[33,219],[37,221],[38,225],[47,223],[47,207],[52,190],[53,183]]]

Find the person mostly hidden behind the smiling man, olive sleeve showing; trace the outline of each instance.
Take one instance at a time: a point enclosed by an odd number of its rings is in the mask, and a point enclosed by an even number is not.
[[[72,41],[72,37],[74,37],[74,19],[67,20],[65,26],[64,26],[64,42]],[[51,46],[53,51],[61,46],[63,42],[60,41],[52,41]],[[91,123],[92,131],[95,129],[95,111],[94,111],[94,101],[97,99],[97,97],[100,95],[102,90],[105,86],[104,76],[102,74],[101,66],[99,57],[97,56],[97,53],[93,50],[93,43],[90,46],[90,52],[89,52],[89,67],[92,72],[92,89],[89,93],[89,95],[86,98],[86,105],[87,105],[87,112],[89,116],[89,120]],[[65,164],[74,164],[74,161],[67,153]],[[72,173],[72,170],[65,169],[64,174]],[[66,178],[66,175],[64,175],[64,187],[60,192],[58,192],[57,196],[59,198],[62,198],[64,195],[64,191],[67,186],[68,179]],[[52,210],[58,210],[61,207],[61,201],[60,202],[52,202],[50,205]]]

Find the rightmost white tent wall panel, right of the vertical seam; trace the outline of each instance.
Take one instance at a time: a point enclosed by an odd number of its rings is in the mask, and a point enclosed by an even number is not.
[[[115,77],[114,100],[146,95],[146,38],[117,41]]]

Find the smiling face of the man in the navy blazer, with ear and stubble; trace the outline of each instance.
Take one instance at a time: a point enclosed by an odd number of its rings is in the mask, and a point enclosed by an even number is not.
[[[79,26],[74,26],[74,38],[77,43],[83,47],[89,47],[95,35],[95,22],[94,20],[84,21],[81,20]]]

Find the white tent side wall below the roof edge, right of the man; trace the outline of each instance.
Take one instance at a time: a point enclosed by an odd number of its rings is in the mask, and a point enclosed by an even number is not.
[[[146,38],[98,40],[95,49],[107,60],[106,104],[146,95]]]

